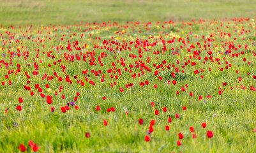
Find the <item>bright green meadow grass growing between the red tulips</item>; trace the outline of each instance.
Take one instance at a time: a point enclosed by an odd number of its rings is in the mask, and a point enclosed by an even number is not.
[[[118,28],[117,26],[109,27],[107,25],[107,27],[93,29],[89,32],[84,32],[84,25],[63,27],[63,30],[61,27],[55,27],[56,31],[53,30],[52,26],[43,28],[41,26],[33,27],[31,31],[27,31],[28,27],[1,29],[1,59],[4,62],[8,62],[10,67],[6,69],[4,64],[1,64],[0,82],[5,82],[5,85],[0,85],[0,130],[2,131],[0,136],[0,152],[17,152],[17,147],[21,143],[30,151],[27,145],[29,140],[32,140],[40,147],[38,152],[255,152],[256,136],[255,133],[252,133],[252,129],[255,129],[256,96],[255,92],[250,90],[250,85],[255,85],[255,80],[252,78],[256,73],[254,68],[256,64],[255,56],[253,56],[255,45],[253,45],[253,40],[250,41],[248,39],[255,37],[255,21],[253,19],[248,22],[243,21],[243,24],[241,24],[243,28],[246,31],[250,30],[250,33],[245,34],[241,34],[242,28],[238,21],[218,21],[212,24],[209,22],[204,22],[204,24],[190,23],[192,24],[191,26],[182,25],[183,29],[181,29],[181,22],[159,25],[153,22],[149,26],[149,30],[145,29],[144,24],[137,25],[137,27],[130,24],[130,27],[126,29],[123,27]],[[220,27],[221,23],[223,24],[222,27]],[[250,24],[252,27],[250,27]],[[163,29],[161,25],[164,25],[165,28]],[[229,28],[226,25],[229,25]],[[93,25],[91,26],[93,27]],[[99,27],[98,24],[95,26]],[[132,26],[135,31],[134,34]],[[176,30],[168,32],[174,26]],[[86,29],[89,27],[87,25]],[[216,30],[211,31],[212,28],[216,29],[216,27],[222,33],[231,33],[231,37],[219,37],[220,32]],[[106,28],[109,28],[109,30]],[[38,30],[41,29],[43,30],[39,34]],[[82,30],[80,31],[80,29]],[[124,30],[126,33],[116,33],[118,29]],[[191,29],[196,30],[192,31]],[[237,33],[234,34],[233,31],[236,30]],[[8,40],[9,36],[5,31],[10,31],[10,35],[15,33],[15,39],[20,38],[20,42],[17,41],[16,43],[16,40]],[[26,36],[22,36],[22,33],[26,31]],[[142,33],[139,33],[139,31],[142,31]],[[167,31],[169,35],[162,34],[164,31]],[[93,35],[90,36],[92,32]],[[73,36],[73,33],[76,35]],[[151,33],[154,39],[148,39],[148,33]],[[65,35],[64,37],[63,34]],[[83,38],[79,37],[81,34],[84,34]],[[127,36],[127,34],[130,34],[130,36]],[[179,42],[178,38],[186,40],[187,34],[190,43],[186,42],[186,47],[184,47],[182,41]],[[210,34],[217,34],[217,36],[210,37]],[[72,38],[70,38],[70,35],[72,35]],[[197,35],[200,36],[199,39],[195,37]],[[27,40],[27,36],[31,39]],[[94,48],[93,44],[103,47],[103,40],[112,41],[111,38],[108,38],[109,36],[113,36],[112,40],[116,40],[121,44],[123,44],[121,40],[124,40],[132,50],[122,50],[118,53],[115,50],[113,52],[116,53],[113,53],[109,52],[109,50]],[[161,50],[162,48],[162,43],[159,41],[160,36],[165,41],[172,40],[173,36],[176,36],[176,39],[172,44],[166,43],[167,52],[163,55],[162,52],[159,55],[153,54],[154,50]],[[193,44],[195,49],[192,48],[192,51],[200,50],[197,42],[201,45],[204,44],[201,36],[206,36],[212,40],[212,46],[209,48],[213,51],[212,56],[220,59],[220,65],[218,62],[209,61],[209,59],[206,61],[206,64],[203,64],[203,58],[205,56],[209,58],[205,50],[202,50],[200,54],[201,60],[198,59],[198,55],[196,59],[193,56],[191,59],[189,58],[189,55],[193,53],[188,53],[186,48],[188,45]],[[51,40],[49,40],[49,37]],[[102,39],[95,40],[95,37],[101,37]],[[45,41],[37,45],[38,38]],[[64,40],[61,41],[61,38],[64,38]],[[158,43],[147,52],[141,54],[142,58],[139,58],[138,48],[135,49],[134,44],[129,45],[129,41],[135,41],[137,38],[148,40],[149,43],[158,40]],[[234,41],[234,38],[236,38],[236,41]],[[70,40],[72,45],[72,52],[66,50],[68,40]],[[82,48],[80,51],[75,50],[72,41],[79,41],[78,47],[84,47],[85,43],[89,47]],[[218,50],[220,52],[228,50],[229,43],[225,46],[225,42],[229,41],[233,41],[235,47],[241,44],[241,48],[238,48],[237,51],[231,49],[232,54],[237,54],[242,50],[244,50],[245,54],[240,54],[238,57],[232,57],[231,54],[217,54]],[[245,44],[248,45],[246,50],[244,48]],[[45,48],[43,48],[43,45],[45,45]],[[58,54],[56,48],[52,47],[59,45],[63,46],[64,50],[58,50],[60,51]],[[170,48],[179,48],[181,45],[183,45],[183,49],[178,49],[180,55],[172,55],[173,51]],[[218,45],[218,48],[213,48],[216,45]],[[222,49],[222,45],[225,48]],[[24,48],[21,48],[22,46]],[[26,47],[27,49],[25,49]],[[112,45],[112,47],[115,48],[116,46]],[[11,66],[8,50],[17,53],[17,48],[21,48],[21,53],[24,50],[29,50],[29,57],[27,60],[24,60],[24,56],[17,57],[15,55],[11,60],[13,63],[13,66]],[[40,50],[38,58],[34,48]],[[50,55],[55,55],[55,59],[47,57],[46,52],[50,50],[52,50]],[[80,61],[77,61],[77,59],[74,62],[64,60],[64,54],[66,53],[75,55],[82,52],[82,54],[86,54],[86,52],[91,52],[92,50],[95,52],[96,66],[89,65],[90,59],[88,57],[86,57],[85,62],[82,61],[82,56],[80,55]],[[101,59],[103,66],[100,66],[97,62],[98,55],[103,52],[107,54],[107,57]],[[2,57],[2,54],[6,54],[6,56]],[[137,58],[129,57],[129,54],[137,55]],[[150,57],[149,63],[146,62],[147,57]],[[184,57],[186,57],[185,61]],[[124,67],[121,66],[121,58],[126,59],[124,63],[128,71],[124,71]],[[246,62],[243,62],[243,58],[246,58]],[[42,62],[40,62],[40,59]],[[54,65],[53,62],[59,59],[62,62],[57,62]],[[117,62],[117,59],[119,62]],[[146,66],[151,69],[151,72],[144,69],[144,75],[142,75],[139,68],[133,68],[132,73],[129,73],[129,69],[131,69],[129,65],[133,64],[135,66],[135,61],[139,61],[139,59],[145,62]],[[189,63],[188,66],[181,68],[188,59],[191,62],[196,62],[196,65],[191,66],[191,63]],[[153,67],[154,63],[157,66],[163,60],[167,62],[167,65],[171,64],[170,69],[165,68],[165,66],[163,66],[164,70]],[[177,60],[179,60],[179,64],[176,63]],[[225,61],[232,65],[229,69],[225,69],[225,66],[228,65],[225,64]],[[251,62],[250,65],[248,61]],[[38,76],[32,75],[34,62],[39,66]],[[122,75],[107,73],[108,69],[113,69],[112,62],[116,64],[116,69],[121,69]],[[26,66],[27,63],[31,65]],[[20,72],[15,75],[17,64],[20,64]],[[48,67],[48,64],[52,66]],[[172,64],[179,69],[179,72],[175,72]],[[64,69],[66,73],[63,73],[61,70],[61,65],[66,66],[66,69]],[[211,71],[209,71],[209,68],[211,68]],[[218,68],[224,68],[224,70],[220,71]],[[8,75],[8,70],[11,69],[14,72],[9,75],[8,79],[5,79],[4,76]],[[88,69],[88,72],[86,75],[83,75],[82,71],[86,69]],[[101,69],[100,77],[94,76],[91,73],[93,69],[95,71]],[[199,71],[204,69],[204,72],[195,75],[193,73],[195,69]],[[153,75],[156,70],[159,71],[158,76],[162,77],[163,80],[156,79]],[[181,72],[182,70],[184,70],[184,73]],[[236,70],[239,71],[238,74]],[[59,77],[63,78],[62,82],[58,82],[58,79],[53,76],[54,71],[57,72]],[[27,79],[26,75],[24,75],[25,72],[31,78]],[[174,72],[175,78],[172,78],[171,72]],[[248,75],[248,72],[251,74]],[[47,76],[53,76],[54,79],[50,81],[47,79],[41,80],[45,73]],[[132,78],[131,75],[133,73],[137,75],[140,73],[141,76]],[[102,74],[105,75],[104,82],[100,81]],[[117,75],[118,79],[110,78],[110,74]],[[72,84],[65,82],[64,78],[66,75],[72,80]],[[77,75],[77,79],[73,78],[75,75]],[[200,75],[203,75],[204,78],[200,78]],[[84,77],[93,80],[95,85],[93,86],[86,82]],[[238,77],[243,79],[242,82],[237,81]],[[11,80],[11,85],[8,85],[8,80]],[[30,80],[31,83],[26,84],[27,80]],[[85,82],[85,85],[77,84],[77,80],[82,80],[82,82]],[[145,82],[146,80],[149,80],[149,85],[140,87],[139,82]],[[177,84],[167,84],[165,83],[166,80],[170,80],[170,82],[176,80]],[[110,87],[110,83],[114,84],[114,82],[116,82],[116,85]],[[223,82],[227,82],[226,87],[223,87]],[[125,84],[130,83],[133,83],[133,87],[126,89]],[[46,103],[45,98],[41,98],[40,92],[34,88],[34,84],[40,85],[45,96],[52,95],[51,105]],[[47,91],[45,84],[49,84],[52,91]],[[183,92],[181,91],[181,86],[184,87],[185,84],[188,84],[188,88],[185,88],[186,91]],[[30,91],[23,89],[24,85],[31,87],[34,96],[30,96]],[[61,92],[59,92],[60,85],[63,85]],[[158,85],[158,87],[154,89],[153,85]],[[241,85],[244,85],[247,89],[241,89]],[[120,92],[119,87],[122,87],[124,92]],[[218,87],[224,90],[222,96],[218,95],[218,91],[220,91]],[[233,87],[233,90],[230,90],[230,87]],[[54,91],[57,91],[57,96],[54,95]],[[176,91],[179,91],[179,95],[176,94]],[[75,105],[79,106],[79,109],[75,110],[73,106],[70,106],[71,110],[62,113],[60,108],[65,106],[67,102],[73,101],[77,92],[80,93],[80,96],[75,101]],[[189,96],[190,92],[193,92],[193,97]],[[64,99],[61,99],[61,94],[64,94]],[[207,95],[211,95],[212,98],[207,99]],[[103,96],[106,97],[105,101],[102,99]],[[202,96],[200,101],[198,99],[199,96]],[[19,103],[19,97],[24,100],[23,103]],[[152,101],[154,101],[154,107],[150,105]],[[17,105],[22,106],[22,111],[15,110]],[[96,105],[101,108],[98,112],[95,110]],[[54,112],[50,112],[50,107],[52,106],[55,108]],[[186,111],[182,110],[182,106],[186,106]],[[110,107],[114,107],[116,111],[107,112],[107,108]],[[163,107],[167,107],[167,112],[162,111]],[[9,110],[4,114],[6,108],[9,108]],[[156,109],[159,111],[159,115],[154,115],[154,110]],[[126,115],[126,111],[128,115]],[[176,113],[179,114],[179,119],[175,118]],[[171,117],[171,123],[167,122],[168,117]],[[144,120],[143,125],[138,123],[140,118]],[[108,126],[103,126],[103,119],[107,120]],[[147,135],[151,120],[155,120],[154,131],[149,135],[151,140],[145,142],[144,136]],[[201,127],[202,122],[206,122],[206,129]],[[15,123],[18,126],[15,126]],[[165,126],[170,126],[170,131],[165,131]],[[195,129],[196,139],[192,139],[192,133],[189,131],[190,126],[193,126]],[[213,131],[213,138],[208,139],[206,137],[207,130]],[[91,137],[86,138],[85,132],[89,132]],[[181,146],[176,145],[178,140],[177,133],[183,133],[184,135],[184,138],[181,140]]]

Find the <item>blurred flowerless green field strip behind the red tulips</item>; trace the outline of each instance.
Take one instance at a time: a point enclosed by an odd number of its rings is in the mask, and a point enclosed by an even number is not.
[[[255,0],[0,0],[0,25],[256,17]]]

